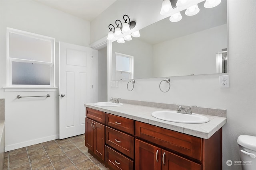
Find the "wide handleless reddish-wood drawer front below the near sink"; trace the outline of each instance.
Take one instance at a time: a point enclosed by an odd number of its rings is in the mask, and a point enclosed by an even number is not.
[[[135,135],[158,146],[202,160],[202,139],[136,121]]]

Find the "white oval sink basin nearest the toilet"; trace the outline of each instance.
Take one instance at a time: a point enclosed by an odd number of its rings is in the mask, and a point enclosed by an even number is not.
[[[209,121],[208,117],[196,113],[189,115],[176,111],[154,111],[151,115],[157,119],[178,123],[206,123]]]

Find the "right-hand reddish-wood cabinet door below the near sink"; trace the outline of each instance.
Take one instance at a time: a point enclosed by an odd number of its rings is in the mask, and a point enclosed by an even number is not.
[[[201,165],[162,150],[162,170],[201,170]]]

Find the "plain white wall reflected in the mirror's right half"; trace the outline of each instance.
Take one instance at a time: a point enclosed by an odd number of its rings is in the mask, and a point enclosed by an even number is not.
[[[216,73],[216,53],[228,48],[227,36],[224,24],[154,45],[153,77]]]

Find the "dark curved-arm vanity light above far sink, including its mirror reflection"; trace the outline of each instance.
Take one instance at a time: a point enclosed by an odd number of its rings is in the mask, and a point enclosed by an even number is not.
[[[168,0],[170,2],[170,0]],[[140,37],[140,32],[135,31],[132,34],[127,34],[130,32],[131,29],[133,29],[136,25],[135,21],[131,21],[128,15],[123,16],[124,23],[120,20],[116,20],[116,27],[114,25],[109,24],[109,32],[108,32],[108,40],[114,40],[116,37],[118,38],[118,43],[124,43],[126,41],[132,40],[132,37]],[[123,34],[124,33],[124,34]]]

